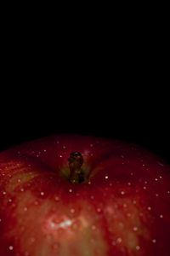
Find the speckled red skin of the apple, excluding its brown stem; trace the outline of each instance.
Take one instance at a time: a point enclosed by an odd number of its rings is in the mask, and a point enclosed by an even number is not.
[[[68,181],[71,152],[88,181]],[[144,148],[59,135],[0,154],[2,256],[170,255],[170,166]]]

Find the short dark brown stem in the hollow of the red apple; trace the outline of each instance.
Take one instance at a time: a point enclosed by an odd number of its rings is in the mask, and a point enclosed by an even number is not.
[[[79,152],[72,152],[68,159],[70,168],[69,181],[71,183],[82,183],[85,180],[84,173],[82,172],[83,158]]]

